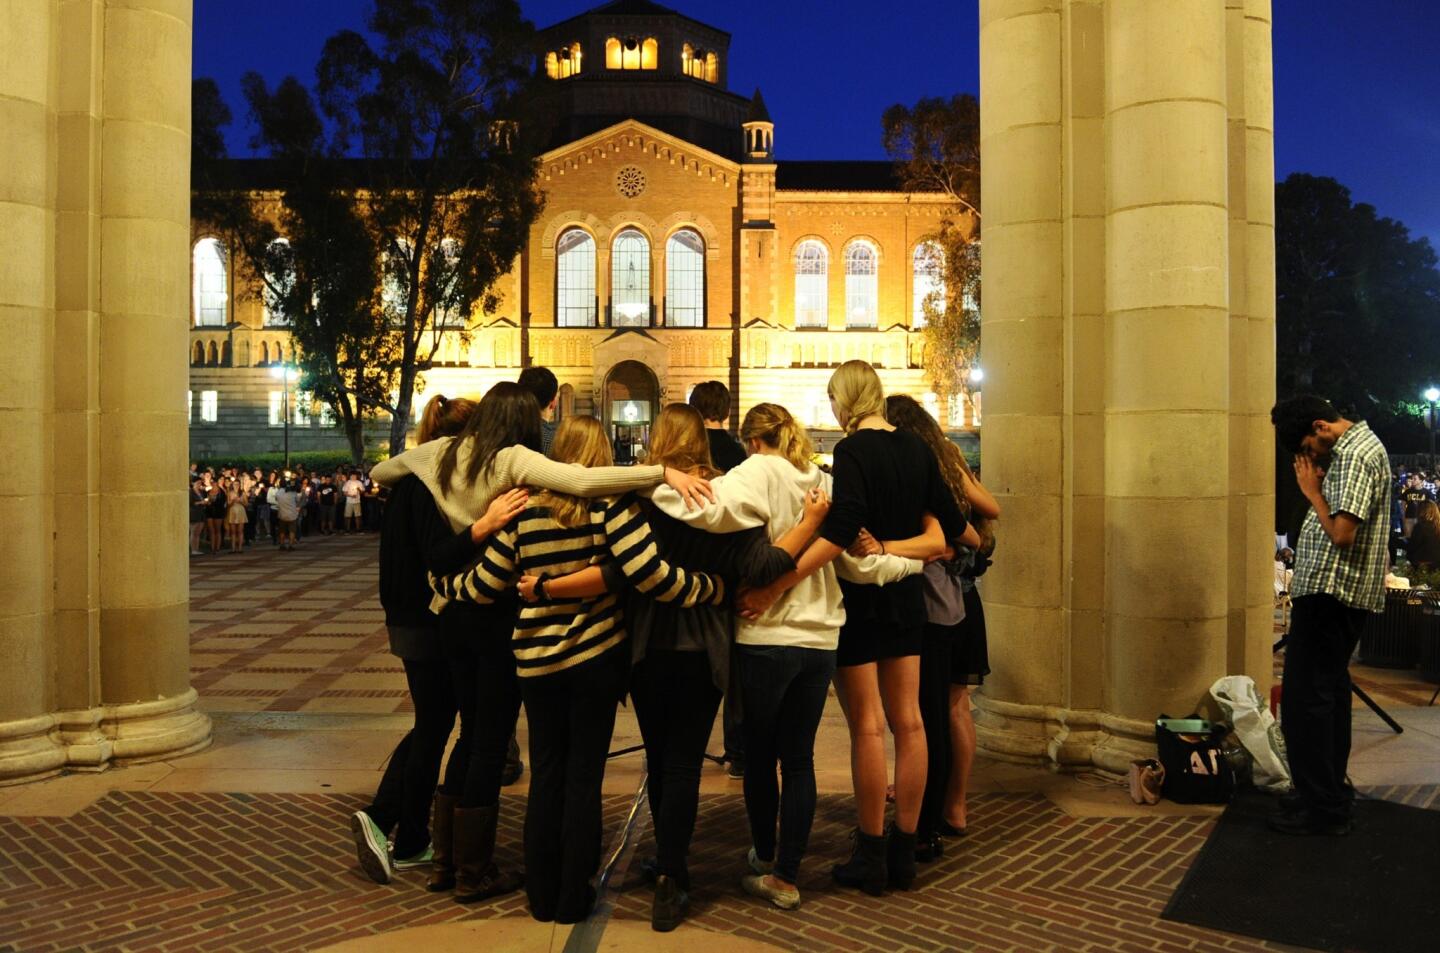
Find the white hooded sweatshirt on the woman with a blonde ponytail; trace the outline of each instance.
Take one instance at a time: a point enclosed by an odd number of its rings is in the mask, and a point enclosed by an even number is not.
[[[818,466],[801,471],[782,456],[753,453],[743,464],[711,481],[716,502],[687,510],[670,487],[655,487],[651,501],[665,515],[710,533],[737,533],[763,525],[770,541],[785,536],[805,512],[805,494],[815,487],[831,491],[829,474]],[[837,576],[847,582],[883,586],[924,569],[917,559],[841,553],[782,595],[755,622],[736,618],[736,642],[834,649],[845,623]]]

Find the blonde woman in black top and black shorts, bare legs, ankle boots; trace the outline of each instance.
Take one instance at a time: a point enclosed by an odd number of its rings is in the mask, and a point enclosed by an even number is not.
[[[835,445],[835,492],[819,538],[801,556],[796,573],[747,593],[743,612],[763,610],[792,579],[852,546],[863,528],[884,553],[932,559],[945,540],[978,544],[955,505],[935,453],[913,433],[886,420],[880,377],[864,361],[848,361],[829,379],[829,402],[845,438]],[[926,533],[937,520],[940,536]],[[916,825],[924,795],[926,743],[920,720],[920,648],[924,590],[919,579],[878,587],[841,582],[845,625],[840,631],[835,685],[850,726],[851,777],[858,831],[851,859],[831,872],[837,882],[883,894],[914,882]],[[886,831],[886,726],[896,744],[896,818]]]

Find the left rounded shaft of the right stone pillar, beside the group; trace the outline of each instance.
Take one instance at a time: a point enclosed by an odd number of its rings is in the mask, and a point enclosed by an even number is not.
[[[985,746],[1048,757],[1066,694],[1061,0],[981,1],[985,484],[1002,544],[982,586]]]

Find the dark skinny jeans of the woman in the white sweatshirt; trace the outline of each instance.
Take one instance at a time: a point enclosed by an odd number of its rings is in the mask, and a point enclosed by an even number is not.
[[[775,858],[775,875],[793,884],[815,821],[815,731],[835,675],[835,654],[783,645],[736,645],[734,651],[744,700],[750,841],[762,861]],[[776,762],[783,787],[775,777]]]

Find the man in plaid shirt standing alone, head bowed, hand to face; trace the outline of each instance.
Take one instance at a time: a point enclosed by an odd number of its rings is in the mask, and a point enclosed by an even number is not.
[[[1320,397],[1283,400],[1270,422],[1310,504],[1295,547],[1280,711],[1297,798],[1270,826],[1342,835],[1354,799],[1349,659],[1369,613],[1385,609],[1390,458],[1369,426]]]

